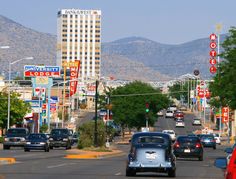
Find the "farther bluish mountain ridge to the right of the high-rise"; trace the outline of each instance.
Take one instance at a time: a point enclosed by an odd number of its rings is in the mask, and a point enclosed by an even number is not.
[[[224,38],[225,35],[222,39]],[[104,43],[102,49],[103,53],[141,62],[172,77],[192,73],[194,69],[199,69],[202,76],[210,76],[209,51],[208,38],[180,45],[166,45],[145,38],[129,37]]]

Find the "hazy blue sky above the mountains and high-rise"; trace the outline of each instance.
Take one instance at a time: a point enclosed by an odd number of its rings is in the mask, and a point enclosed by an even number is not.
[[[57,11],[102,10],[102,42],[140,36],[180,44],[236,26],[236,0],[1,0],[0,14],[40,32],[56,34]]]

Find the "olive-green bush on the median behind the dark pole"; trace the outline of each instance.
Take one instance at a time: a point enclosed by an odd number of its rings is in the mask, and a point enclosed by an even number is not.
[[[94,121],[84,123],[79,127],[80,138],[78,141],[78,148],[83,149],[86,147],[91,147],[94,144]],[[106,129],[103,121],[98,121],[97,123],[97,139],[98,147],[105,146],[106,142]]]

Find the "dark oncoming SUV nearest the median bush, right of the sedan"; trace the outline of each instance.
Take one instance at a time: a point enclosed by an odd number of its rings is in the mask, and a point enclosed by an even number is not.
[[[66,149],[71,149],[72,134],[69,129],[60,128],[60,129],[52,129],[50,134],[50,149],[53,147],[65,147]]]

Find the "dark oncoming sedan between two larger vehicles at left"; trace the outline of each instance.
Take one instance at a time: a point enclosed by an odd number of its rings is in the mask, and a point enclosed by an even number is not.
[[[46,134],[30,134],[24,146],[25,152],[30,150],[44,150],[49,152],[49,141]]]

